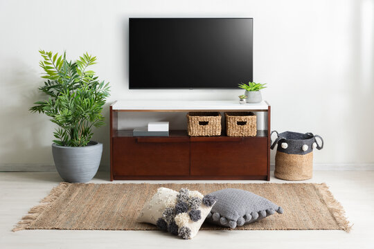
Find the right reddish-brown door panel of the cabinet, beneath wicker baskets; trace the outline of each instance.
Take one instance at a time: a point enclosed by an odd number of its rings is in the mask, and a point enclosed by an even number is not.
[[[266,176],[267,138],[191,140],[191,176]]]

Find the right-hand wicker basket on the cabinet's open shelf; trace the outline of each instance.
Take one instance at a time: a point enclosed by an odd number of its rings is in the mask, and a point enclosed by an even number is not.
[[[256,136],[257,119],[251,111],[226,112],[227,136]]]

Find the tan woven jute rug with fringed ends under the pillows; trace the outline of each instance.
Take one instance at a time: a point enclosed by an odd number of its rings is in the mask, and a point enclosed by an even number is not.
[[[326,184],[315,183],[198,183],[198,184],[84,184],[60,183],[28,212],[14,231],[24,229],[157,230],[136,217],[157,188],[199,190],[202,194],[227,187],[248,190],[280,205],[274,214],[236,230],[345,230],[350,229],[344,210]],[[205,224],[202,230],[226,230]]]

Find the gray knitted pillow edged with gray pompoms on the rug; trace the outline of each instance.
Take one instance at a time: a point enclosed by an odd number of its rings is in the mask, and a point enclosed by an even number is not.
[[[246,190],[229,188],[209,195],[215,196],[217,202],[206,221],[216,225],[234,229],[237,225],[252,223],[276,212],[283,214],[283,209],[278,205]]]

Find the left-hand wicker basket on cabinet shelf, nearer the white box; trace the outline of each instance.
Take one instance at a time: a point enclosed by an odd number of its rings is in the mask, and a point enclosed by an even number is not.
[[[220,136],[221,113],[190,112],[187,113],[188,136]]]

